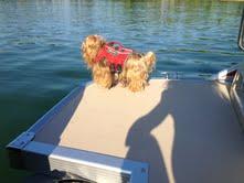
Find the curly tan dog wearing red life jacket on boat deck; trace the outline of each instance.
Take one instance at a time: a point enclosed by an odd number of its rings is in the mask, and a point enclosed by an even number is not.
[[[106,42],[100,35],[88,35],[81,52],[94,82],[105,88],[120,83],[134,93],[144,90],[156,65],[155,53],[141,54],[118,42]]]

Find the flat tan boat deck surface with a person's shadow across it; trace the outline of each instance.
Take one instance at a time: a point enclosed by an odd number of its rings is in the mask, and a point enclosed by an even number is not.
[[[35,140],[148,162],[149,182],[244,182],[244,134],[226,87],[152,79],[142,93],[86,87]]]

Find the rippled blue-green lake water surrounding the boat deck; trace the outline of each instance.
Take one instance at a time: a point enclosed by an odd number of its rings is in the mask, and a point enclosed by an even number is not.
[[[79,53],[88,34],[157,54],[163,72],[208,76],[243,62],[236,40],[241,2],[209,0],[1,0],[0,175],[19,182],[4,146],[83,80]],[[2,181],[1,181],[2,182]]]

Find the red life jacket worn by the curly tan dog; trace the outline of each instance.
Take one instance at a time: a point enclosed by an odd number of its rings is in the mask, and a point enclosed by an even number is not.
[[[113,66],[118,72],[131,53],[132,50],[124,47],[118,42],[108,42],[98,51],[95,62],[100,62],[105,58],[109,66]]]

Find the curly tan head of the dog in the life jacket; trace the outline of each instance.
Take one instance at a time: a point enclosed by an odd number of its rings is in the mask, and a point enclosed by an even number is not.
[[[89,68],[93,67],[96,55],[105,43],[105,39],[100,35],[88,35],[82,43],[83,58]]]

